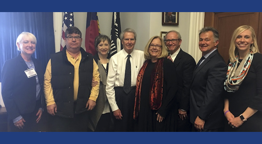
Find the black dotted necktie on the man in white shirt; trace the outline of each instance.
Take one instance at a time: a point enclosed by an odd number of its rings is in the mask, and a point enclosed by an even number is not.
[[[124,72],[124,86],[123,90],[128,94],[131,90],[131,63],[130,63],[130,54],[127,55],[125,72]]]

